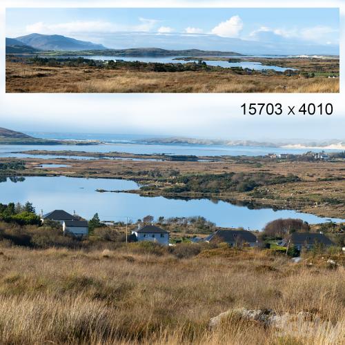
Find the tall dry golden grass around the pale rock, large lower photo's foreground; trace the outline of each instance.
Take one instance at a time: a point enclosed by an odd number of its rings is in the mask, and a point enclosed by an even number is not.
[[[342,344],[345,270],[291,264],[265,251],[176,259],[1,248],[1,344]],[[221,250],[219,253],[223,253]],[[282,337],[210,317],[233,307],[309,311],[338,328]]]

